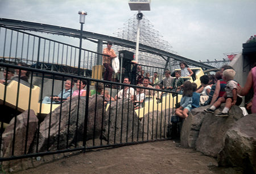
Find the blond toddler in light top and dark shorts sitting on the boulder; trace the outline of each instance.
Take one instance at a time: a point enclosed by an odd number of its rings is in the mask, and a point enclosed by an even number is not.
[[[218,98],[218,100],[214,102],[212,106],[210,106],[208,109],[205,109],[205,112],[214,113],[214,110],[216,110],[216,108],[219,107],[221,103],[226,102],[224,109],[221,113],[217,114],[216,117],[227,117],[231,106],[239,106],[241,104],[242,97],[238,96],[237,94],[238,82],[233,80],[235,75],[236,72],[233,69],[226,69],[222,73],[222,79],[226,82],[226,93],[223,97]]]

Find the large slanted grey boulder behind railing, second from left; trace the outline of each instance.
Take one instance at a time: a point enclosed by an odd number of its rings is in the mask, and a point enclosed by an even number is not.
[[[98,138],[101,132],[102,110],[105,111],[102,96],[89,98],[88,107],[88,125],[86,140]],[[49,113],[39,128],[39,152],[46,150],[61,150],[68,148],[76,140],[82,140],[84,134],[85,121],[85,103],[86,97],[73,96],[62,103],[62,107],[57,107],[52,113]],[[69,111],[69,106],[71,109]],[[104,107],[104,109],[102,109]],[[95,122],[94,122],[95,119]],[[95,127],[94,127],[95,125]],[[36,149],[36,142],[33,151]]]

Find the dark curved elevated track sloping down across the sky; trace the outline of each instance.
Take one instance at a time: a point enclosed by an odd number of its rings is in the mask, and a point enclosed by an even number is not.
[[[80,38],[80,30],[67,28],[67,27],[53,26],[53,25],[49,25],[49,24],[0,18],[0,26],[1,25],[16,29],[16,30],[36,31],[36,32],[44,32],[44,33],[49,33],[49,34],[56,34],[56,35]],[[135,49],[135,47],[136,47],[136,43],[131,42],[130,40],[115,38],[113,36],[101,35],[101,34],[97,34],[94,32],[82,31],[82,38],[90,40],[91,42],[96,42],[96,43],[97,43],[97,40],[104,40],[104,41],[112,40],[112,42],[115,45],[120,45],[122,47],[133,48],[133,49]],[[93,40],[93,39],[96,39],[96,40]],[[191,60],[186,57],[179,56],[179,55],[175,55],[174,53],[163,51],[161,49],[150,47],[150,46],[144,45],[144,44],[139,44],[139,50],[143,51],[143,52],[148,52],[148,53],[152,53],[152,54],[161,56],[166,61],[168,61],[168,59],[166,58],[166,57],[168,57],[168,58],[174,59],[176,61],[185,61],[189,65],[193,65],[193,66],[200,67],[203,69],[216,68],[216,67],[212,67],[210,65],[200,63],[198,61]]]

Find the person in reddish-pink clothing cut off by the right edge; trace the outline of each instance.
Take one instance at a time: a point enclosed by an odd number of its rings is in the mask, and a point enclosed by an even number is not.
[[[247,76],[245,86],[243,88],[241,88],[241,86],[238,86],[238,90],[237,90],[238,94],[240,94],[241,96],[245,96],[253,86],[253,91],[254,91],[253,101],[252,101],[252,105],[249,105],[249,107],[251,107],[251,113],[256,113],[256,67],[255,65],[256,64],[254,64],[254,68],[251,69],[251,71]]]

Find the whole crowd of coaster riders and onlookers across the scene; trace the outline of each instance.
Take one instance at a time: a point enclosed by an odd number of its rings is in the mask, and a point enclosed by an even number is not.
[[[255,38],[255,37],[254,37]],[[111,67],[111,60],[117,57],[112,47],[112,42],[107,43],[107,48],[104,49],[103,64],[106,68],[104,74],[104,80],[111,81],[113,77],[113,69]],[[19,63],[19,66],[28,67],[26,63]],[[102,95],[105,98],[105,104],[109,101],[117,101],[121,98],[129,98],[134,102],[134,108],[139,109],[142,106],[143,100],[146,96],[155,96],[157,102],[161,100],[163,92],[155,89],[168,90],[172,92],[178,92],[182,95],[180,106],[176,108],[176,115],[181,118],[187,118],[189,111],[199,106],[210,107],[205,109],[205,112],[214,113],[214,111],[220,107],[221,103],[225,103],[224,109],[221,113],[216,114],[217,117],[228,116],[228,111],[233,105],[240,105],[242,102],[242,96],[245,96],[251,87],[256,90],[255,78],[256,67],[251,69],[246,85],[244,88],[234,80],[236,72],[233,67],[224,65],[221,67],[221,71],[216,72],[215,75],[204,75],[200,77],[201,85],[197,86],[194,82],[187,81],[187,78],[193,75],[193,71],[184,62],[180,62],[181,71],[175,71],[175,78],[171,76],[171,71],[165,71],[165,78],[162,81],[159,80],[158,72],[154,72],[154,76],[150,78],[150,73],[144,73],[141,65],[137,66],[136,83],[139,87],[152,88],[131,88],[129,86],[123,86],[123,89],[119,90],[115,97],[109,95],[109,91],[105,89],[104,84],[101,82],[95,83],[95,89],[90,90],[89,97],[94,94]],[[144,76],[145,74],[145,76]],[[4,77],[0,80],[2,84],[8,84],[12,78],[18,76],[21,80],[27,81],[30,76],[30,72],[24,70],[15,70],[12,68],[5,69],[3,73]],[[131,79],[129,77],[123,78],[123,84],[130,84]],[[85,80],[77,80],[77,90],[73,92],[72,88],[75,85],[74,80],[68,79],[65,81],[65,89],[60,92],[58,96],[44,97],[42,103],[60,103],[72,96],[86,96],[86,90],[84,89],[86,84]],[[155,87],[153,87],[153,85]],[[198,88],[197,88],[198,87]],[[254,94],[255,95],[255,94]],[[173,95],[175,96],[175,95]],[[252,113],[256,113],[256,97],[253,97],[251,102],[248,103],[247,109],[251,109]]]

